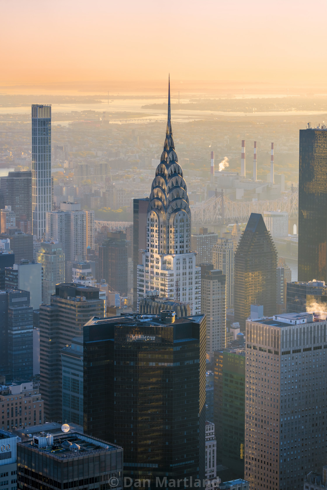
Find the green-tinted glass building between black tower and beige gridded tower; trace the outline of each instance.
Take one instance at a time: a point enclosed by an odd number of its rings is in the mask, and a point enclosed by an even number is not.
[[[214,423],[221,478],[244,477],[245,351],[214,353]]]

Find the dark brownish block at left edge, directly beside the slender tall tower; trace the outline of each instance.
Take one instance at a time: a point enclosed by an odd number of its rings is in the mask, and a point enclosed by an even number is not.
[[[32,172],[8,172],[0,177],[0,193],[5,206],[11,206],[16,220],[32,221]]]

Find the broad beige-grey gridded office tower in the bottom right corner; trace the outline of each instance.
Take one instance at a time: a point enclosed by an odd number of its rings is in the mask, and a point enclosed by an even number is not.
[[[302,489],[326,463],[326,315],[249,320],[246,339],[245,479]]]

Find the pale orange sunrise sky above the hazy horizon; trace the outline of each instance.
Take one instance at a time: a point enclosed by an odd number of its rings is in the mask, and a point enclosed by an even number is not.
[[[75,80],[327,85],[327,2],[1,1],[0,85]]]

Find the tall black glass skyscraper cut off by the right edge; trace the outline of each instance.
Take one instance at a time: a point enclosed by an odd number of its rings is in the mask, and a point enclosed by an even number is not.
[[[324,126],[326,127],[326,126]],[[299,281],[326,281],[327,130],[300,130]]]

